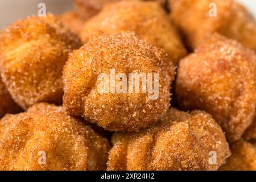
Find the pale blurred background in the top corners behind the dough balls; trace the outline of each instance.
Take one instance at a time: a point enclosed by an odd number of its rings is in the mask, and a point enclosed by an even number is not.
[[[237,1],[245,5],[256,19],[256,0]],[[0,0],[0,29],[27,15],[37,14],[40,2],[46,3],[47,12],[55,14],[73,9],[73,0]]]

